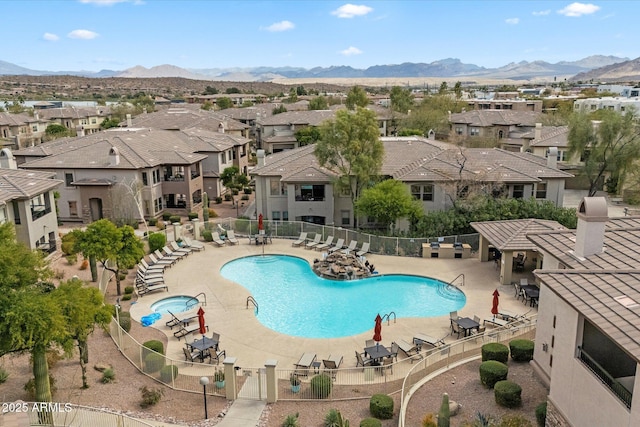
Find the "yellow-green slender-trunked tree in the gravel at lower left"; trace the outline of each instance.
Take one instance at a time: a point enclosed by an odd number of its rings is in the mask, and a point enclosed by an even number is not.
[[[66,319],[69,337],[78,346],[82,388],[89,388],[86,365],[89,363],[87,340],[96,324],[104,326],[109,322],[111,308],[104,304],[98,288],[85,287],[77,278],[62,282],[53,292],[53,296]]]

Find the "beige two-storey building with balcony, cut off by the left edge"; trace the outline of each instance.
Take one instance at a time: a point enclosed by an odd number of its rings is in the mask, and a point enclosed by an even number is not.
[[[13,223],[18,242],[48,253],[58,237],[54,191],[62,181],[54,176],[18,169],[11,150],[0,150],[0,224]]]

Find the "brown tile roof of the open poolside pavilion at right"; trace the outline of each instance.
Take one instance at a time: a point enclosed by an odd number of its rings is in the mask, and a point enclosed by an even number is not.
[[[500,251],[535,250],[538,246],[527,239],[528,233],[566,230],[557,221],[534,218],[472,222],[470,225]]]

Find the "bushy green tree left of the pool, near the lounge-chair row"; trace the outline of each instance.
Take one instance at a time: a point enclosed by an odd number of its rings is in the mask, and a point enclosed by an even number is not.
[[[77,233],[76,251],[85,258],[95,257],[104,269],[114,273],[117,294],[122,295],[120,270],[131,268],[144,256],[143,244],[133,228],[129,225],[116,227],[108,219],[101,219],[85,231],[74,230],[72,233]]]

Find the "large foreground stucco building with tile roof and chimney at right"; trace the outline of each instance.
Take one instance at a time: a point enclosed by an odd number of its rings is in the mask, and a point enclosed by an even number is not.
[[[540,284],[532,365],[549,386],[547,426],[640,420],[640,217],[584,198],[575,230],[527,235]]]

